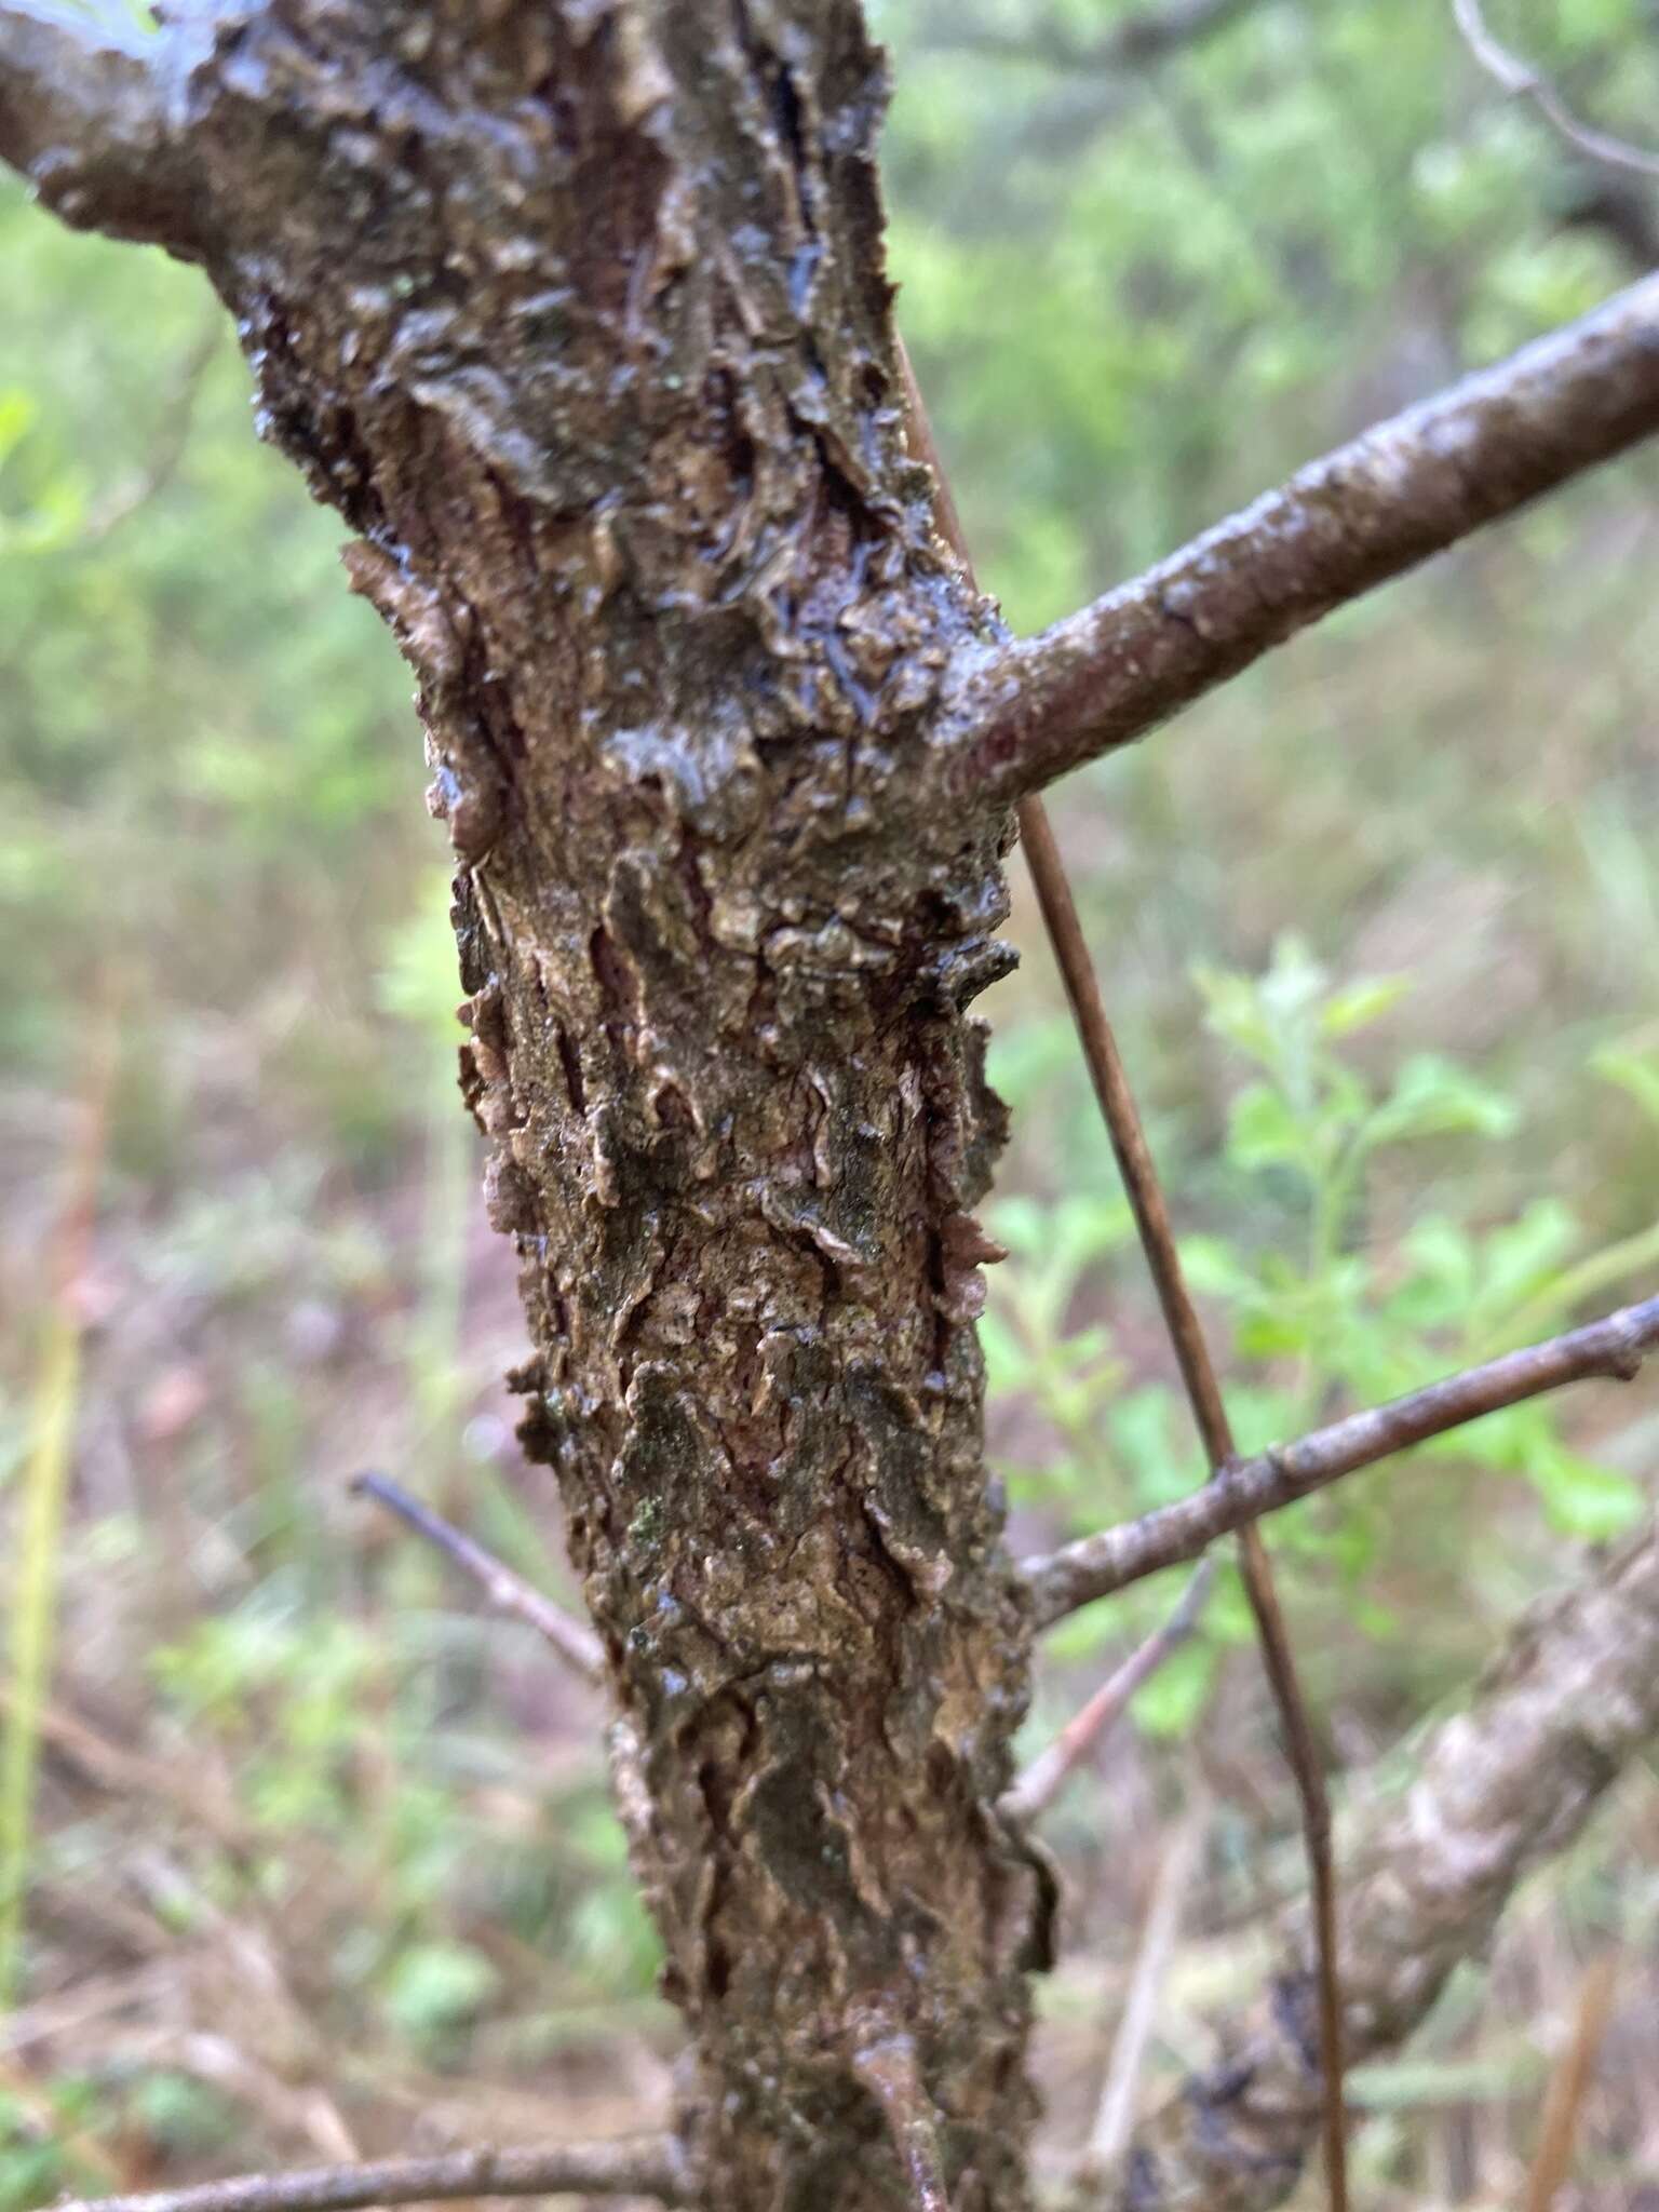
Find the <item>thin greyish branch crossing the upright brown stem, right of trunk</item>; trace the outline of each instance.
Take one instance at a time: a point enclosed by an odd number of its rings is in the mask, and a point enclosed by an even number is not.
[[[1659,1298],[1644,1298],[1582,1329],[1504,1352],[1482,1367],[1464,1367],[1407,1398],[1349,1413],[1294,1444],[1274,1444],[1250,1460],[1232,1460],[1190,1498],[1179,1498],[1119,1528],[1086,1535],[1046,1557],[1026,1559],[1024,1579],[1037,1624],[1046,1628],[1077,1606],[1108,1597],[1144,1575],[1197,1559],[1217,1537],[1232,1535],[1340,1475],[1480,1420],[1482,1413],[1498,1413],[1506,1405],[1593,1376],[1628,1383],[1655,1345],[1659,1345]]]

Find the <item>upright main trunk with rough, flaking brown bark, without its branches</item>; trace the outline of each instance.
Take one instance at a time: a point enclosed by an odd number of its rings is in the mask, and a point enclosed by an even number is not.
[[[951,2203],[1018,2212],[1044,1882],[995,1812],[1031,1635],[967,1015],[1009,830],[911,796],[995,633],[905,449],[883,66],[849,0],[484,15],[221,31],[201,252],[420,677],[522,1436],[639,1741],[708,2201],[911,2203],[918,2066]]]

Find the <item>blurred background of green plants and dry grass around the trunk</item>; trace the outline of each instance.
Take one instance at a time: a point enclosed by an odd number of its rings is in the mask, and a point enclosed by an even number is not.
[[[1168,51],[1115,0],[874,13],[900,321],[1022,628],[1659,259],[1659,188],[1506,100],[1440,0],[1188,0]],[[1652,0],[1489,20],[1659,142]],[[199,274],[11,186],[0,257],[0,2212],[606,2128],[666,2097],[675,2026],[595,1705],[345,1493],[387,1467],[568,1595],[407,670]],[[1652,1287],[1655,493],[1655,453],[1604,471],[1060,799],[1245,1442]],[[1046,1540],[1199,1462],[1020,880],[1013,933],[991,1442]],[[1582,1394],[1274,1524],[1340,1796],[1396,1785],[1655,1467],[1652,1391]],[[1170,1599],[1053,1639],[1033,1747]],[[1243,1644],[1223,1579],[1048,1820],[1057,2146],[1181,1801],[1212,1812],[1148,2093],[1301,1878]],[[1655,1781],[1358,2084],[1369,2203],[1517,2199],[1604,1955],[1571,2203],[1659,2203]]]

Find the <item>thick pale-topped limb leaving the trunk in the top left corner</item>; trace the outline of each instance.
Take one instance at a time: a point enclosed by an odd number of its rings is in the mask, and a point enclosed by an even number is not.
[[[181,95],[201,33],[144,35],[131,13],[115,18],[53,0],[0,4],[0,161],[75,230],[197,259]]]

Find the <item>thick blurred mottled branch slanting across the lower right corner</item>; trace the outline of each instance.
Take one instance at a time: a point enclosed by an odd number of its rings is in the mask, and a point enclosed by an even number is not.
[[[1511,1635],[1467,1712],[1429,1741],[1413,1785],[1345,1836],[1343,2013],[1349,2057],[1411,2035],[1447,1975],[1480,1958],[1515,1885],[1564,1851],[1659,1734],[1659,1522]],[[1137,2130],[1121,2194],[1071,2212],[1272,2212],[1318,2132],[1310,1929],[1221,2035],[1212,2068]]]

